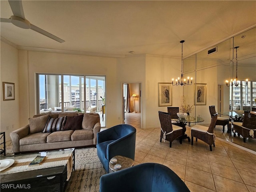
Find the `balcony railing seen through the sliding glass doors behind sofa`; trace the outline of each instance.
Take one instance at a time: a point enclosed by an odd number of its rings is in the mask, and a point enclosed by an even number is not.
[[[80,101],[72,101],[71,104],[70,102],[64,102],[64,107],[66,106],[75,106],[76,108],[81,109],[82,111],[86,111],[84,110],[84,101],[82,101],[82,106],[80,107]],[[91,100],[91,103],[89,104],[89,101],[86,101],[86,109],[90,106],[97,106],[97,112],[101,111],[102,108],[102,104],[103,104],[103,100],[98,100],[98,104],[97,104],[97,100]],[[60,107],[61,107],[61,102],[60,102]],[[47,109],[47,104],[46,103],[42,103],[40,104],[40,110],[42,109]]]

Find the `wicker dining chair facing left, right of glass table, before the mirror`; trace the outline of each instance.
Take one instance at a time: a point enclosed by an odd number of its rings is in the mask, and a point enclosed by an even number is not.
[[[191,145],[193,145],[194,137],[206,142],[210,146],[210,151],[212,151],[212,144],[215,147],[215,135],[214,135],[214,125],[216,124],[218,113],[212,115],[212,120],[209,127],[202,125],[194,125],[191,127]]]

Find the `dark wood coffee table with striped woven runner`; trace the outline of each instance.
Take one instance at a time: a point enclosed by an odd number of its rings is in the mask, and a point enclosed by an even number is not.
[[[40,165],[28,166],[36,156],[46,158]],[[14,163],[0,172],[1,191],[64,191],[72,170],[75,169],[74,148],[43,153],[1,157]],[[6,186],[11,188],[7,189]],[[10,190],[12,189],[12,190]]]

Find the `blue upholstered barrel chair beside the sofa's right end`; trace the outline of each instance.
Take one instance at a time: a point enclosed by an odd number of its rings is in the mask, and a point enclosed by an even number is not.
[[[109,161],[116,155],[134,160],[136,129],[127,124],[116,125],[97,133],[97,154],[109,173]]]

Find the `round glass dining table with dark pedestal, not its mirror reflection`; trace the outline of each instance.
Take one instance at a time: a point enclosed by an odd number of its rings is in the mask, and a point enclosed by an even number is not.
[[[178,119],[172,118],[172,121],[176,121],[177,125],[183,128],[182,139],[188,139],[188,142],[190,142],[190,137],[187,134],[185,134],[186,125],[188,124],[190,126],[190,123],[203,122],[204,119],[202,117],[193,117],[191,115],[188,115],[186,118],[178,118]]]

